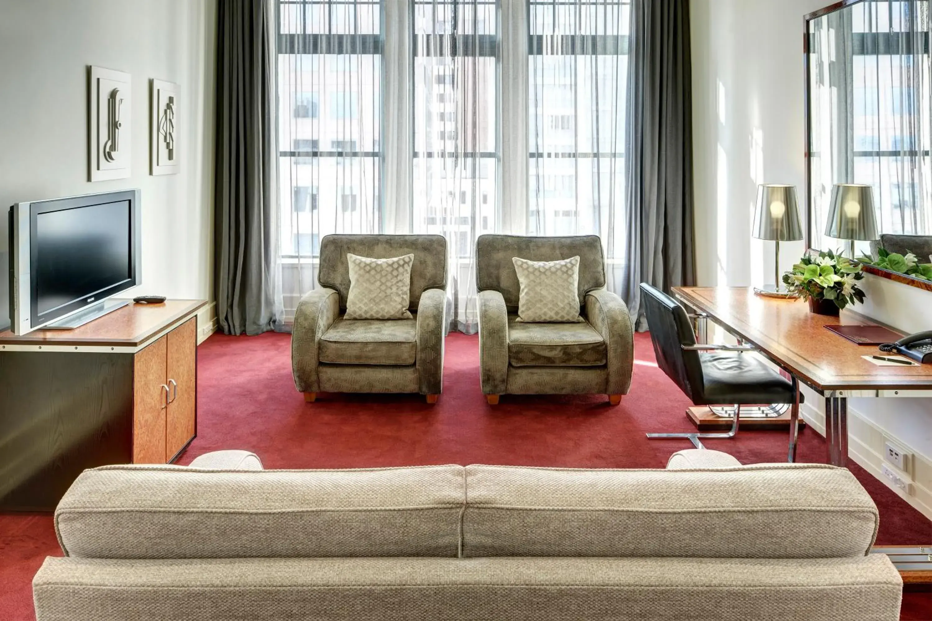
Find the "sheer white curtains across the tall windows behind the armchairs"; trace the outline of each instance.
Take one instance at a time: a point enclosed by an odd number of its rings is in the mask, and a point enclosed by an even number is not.
[[[628,0],[279,0],[286,319],[330,233],[446,237],[476,331],[476,237],[602,236],[624,257]],[[610,277],[614,288],[616,277]]]

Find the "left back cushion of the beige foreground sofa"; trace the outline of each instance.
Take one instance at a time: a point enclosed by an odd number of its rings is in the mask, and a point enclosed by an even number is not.
[[[103,466],[55,510],[65,554],[97,559],[456,557],[462,466],[222,471]]]

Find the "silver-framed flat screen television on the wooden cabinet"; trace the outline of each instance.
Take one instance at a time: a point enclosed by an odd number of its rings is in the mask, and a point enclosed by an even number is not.
[[[140,217],[139,190],[11,207],[11,330],[74,328],[114,310],[107,298],[139,284]]]

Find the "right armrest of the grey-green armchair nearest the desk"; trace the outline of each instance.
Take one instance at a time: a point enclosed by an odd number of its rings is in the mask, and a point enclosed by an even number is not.
[[[589,291],[585,296],[585,318],[601,334],[608,349],[606,392],[626,395],[635,359],[634,329],[628,307],[609,290]]]

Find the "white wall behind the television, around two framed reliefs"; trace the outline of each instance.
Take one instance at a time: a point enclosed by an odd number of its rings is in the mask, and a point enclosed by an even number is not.
[[[0,0],[0,327],[7,207],[21,200],[142,188],[130,294],[212,300],[215,34],[216,0]],[[129,179],[88,182],[88,65],[132,75]],[[180,85],[176,175],[149,175],[150,78]]]

